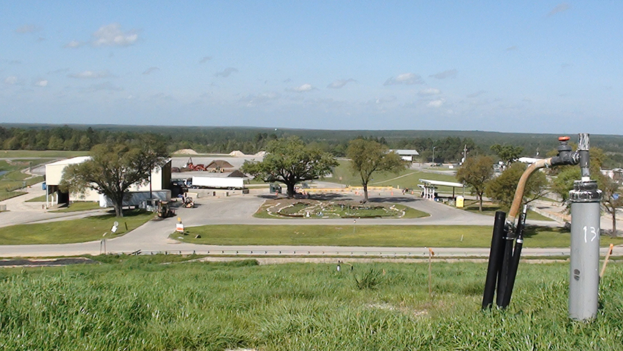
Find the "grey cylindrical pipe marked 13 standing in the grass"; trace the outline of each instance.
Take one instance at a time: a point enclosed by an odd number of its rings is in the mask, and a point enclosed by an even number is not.
[[[596,181],[575,181],[571,201],[569,316],[586,321],[599,303],[599,201]]]

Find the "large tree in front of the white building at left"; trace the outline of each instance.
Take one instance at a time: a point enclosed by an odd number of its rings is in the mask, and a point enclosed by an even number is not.
[[[91,188],[109,197],[117,217],[123,217],[123,200],[129,197],[129,188],[145,183],[152,170],[168,159],[163,145],[153,138],[95,145],[90,154],[90,160],[65,168],[60,188],[78,193]]]

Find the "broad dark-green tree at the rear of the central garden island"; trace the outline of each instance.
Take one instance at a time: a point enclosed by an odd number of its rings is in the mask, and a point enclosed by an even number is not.
[[[306,146],[298,136],[270,141],[266,152],[262,162],[244,163],[241,170],[267,183],[285,183],[288,197],[294,197],[296,183],[324,177],[338,165],[334,156]]]

